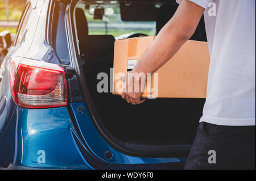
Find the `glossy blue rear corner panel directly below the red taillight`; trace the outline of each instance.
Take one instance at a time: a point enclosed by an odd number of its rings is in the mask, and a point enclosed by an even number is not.
[[[73,126],[67,107],[44,110],[16,107],[11,121],[16,123],[15,165],[92,169],[72,137]]]

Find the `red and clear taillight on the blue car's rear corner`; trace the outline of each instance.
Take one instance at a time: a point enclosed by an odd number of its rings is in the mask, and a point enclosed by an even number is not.
[[[26,108],[67,105],[67,82],[61,66],[13,57],[10,66],[11,94]]]

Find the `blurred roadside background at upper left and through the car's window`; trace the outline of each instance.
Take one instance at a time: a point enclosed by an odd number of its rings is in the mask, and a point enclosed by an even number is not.
[[[22,15],[26,0],[0,0],[0,32],[9,30],[13,36],[16,33],[19,19]],[[93,15],[85,8],[84,3],[78,5],[84,10],[88,19],[89,34],[111,34],[119,36],[124,33],[139,31],[147,35],[155,34],[155,22],[122,22],[119,6],[112,5],[110,13],[103,19],[94,19]],[[93,7],[90,7],[92,10]]]

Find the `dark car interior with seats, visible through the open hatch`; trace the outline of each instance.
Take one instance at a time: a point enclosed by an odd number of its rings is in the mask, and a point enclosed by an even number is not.
[[[90,1],[90,3],[97,3],[97,1]],[[163,3],[157,7],[158,11],[154,19],[156,35],[175,14],[177,7],[177,3]],[[96,77],[100,72],[105,72],[110,77],[115,37],[88,35],[88,20],[84,10],[77,7],[75,15],[82,69],[90,98],[100,117],[97,120],[98,125],[101,125],[100,130],[108,132],[115,140],[114,142],[121,147],[122,145],[123,148],[130,146],[130,149],[137,151],[138,155],[150,148],[157,151],[159,157],[166,157],[173,153],[174,145],[191,145],[205,100],[158,98],[147,99],[144,103],[133,106],[119,95],[113,95],[111,92],[99,93],[97,83],[100,80]],[[191,40],[207,41],[203,17]],[[176,151],[178,153],[181,150]],[[184,156],[187,155],[189,146],[181,152]]]

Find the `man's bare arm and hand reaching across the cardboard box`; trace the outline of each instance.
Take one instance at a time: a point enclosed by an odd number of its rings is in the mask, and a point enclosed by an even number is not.
[[[174,16],[158,33],[150,48],[138,61],[131,73],[144,73],[145,75],[154,73],[170,60],[193,35],[204,10],[203,7],[193,2],[181,1]],[[123,81],[126,82],[126,90],[129,90],[129,86],[133,86],[133,83],[129,82],[133,80],[128,81],[127,74]],[[135,78],[134,81],[139,81],[139,85],[141,85],[140,79],[136,80]],[[140,92],[123,92],[122,98],[126,99],[128,103],[140,104],[144,102],[144,99],[141,99],[141,94],[140,88]]]

